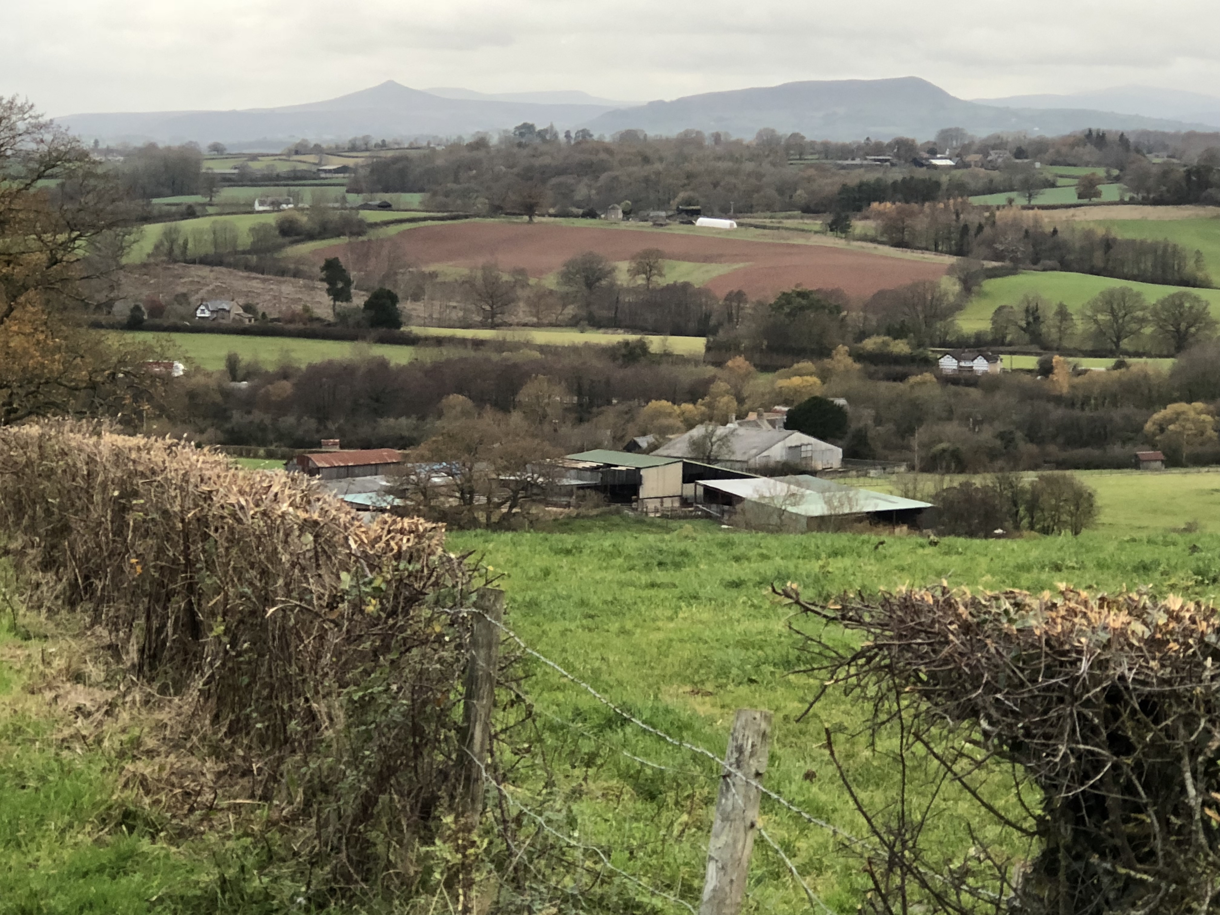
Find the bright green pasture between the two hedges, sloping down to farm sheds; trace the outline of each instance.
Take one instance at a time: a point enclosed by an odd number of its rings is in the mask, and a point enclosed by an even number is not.
[[[571,522],[555,533],[459,533],[450,544],[477,550],[508,573],[509,622],[527,643],[645,722],[720,753],[734,709],[772,710],[766,783],[854,834],[863,825],[834,776],[822,728],[838,734],[836,745],[869,803],[892,798],[894,773],[849,736],[864,715],[852,700],[828,694],[806,720],[795,720],[817,683],[794,673],[802,656],[786,630],[787,610],[769,597],[772,583],[794,581],[806,595],[828,598],[942,578],[1032,590],[1061,581],[1105,589],[1152,584],[1196,595],[1215,594],[1220,582],[1216,536],[1099,532],[1025,540],[947,538],[937,547],[908,537],[886,538],[875,549],[880,539],[622,520]],[[1203,550],[1192,554],[1192,544]],[[648,882],[670,891],[686,887],[683,897],[697,904],[715,767],[623,725],[553,671],[536,664],[532,673],[526,688],[542,710],[554,795],[572,805],[567,831],[615,848],[616,863]],[[623,750],[671,771],[636,762]],[[933,827],[935,842],[947,852],[965,852],[966,816],[970,808],[950,798]],[[762,824],[833,911],[856,910],[859,863],[836,850],[826,832],[769,800]],[[802,891],[762,842],[755,845],[747,911],[808,911]]]

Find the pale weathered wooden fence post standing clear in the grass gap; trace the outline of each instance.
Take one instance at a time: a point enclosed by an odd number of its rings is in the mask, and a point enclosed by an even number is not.
[[[738,709],[720,777],[699,915],[737,915],[742,909],[762,793],[733,771],[761,782],[770,745],[771,712]]]

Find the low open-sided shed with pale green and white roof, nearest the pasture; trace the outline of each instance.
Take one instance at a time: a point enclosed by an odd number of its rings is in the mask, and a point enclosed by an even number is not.
[[[850,517],[917,527],[932,508],[806,475],[705,479],[694,486],[694,503],[725,520],[788,533],[822,529],[832,518]]]

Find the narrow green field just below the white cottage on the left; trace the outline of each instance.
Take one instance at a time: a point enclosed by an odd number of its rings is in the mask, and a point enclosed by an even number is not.
[[[345,340],[305,340],[294,337],[245,337],[221,333],[160,333],[152,331],[121,331],[124,338],[137,337],[163,348],[200,368],[217,371],[224,367],[224,356],[237,353],[244,361],[259,362],[265,368],[281,364],[309,365],[329,359],[354,356],[384,356],[390,362],[410,362],[420,356],[415,346],[394,346],[384,343],[348,343]]]

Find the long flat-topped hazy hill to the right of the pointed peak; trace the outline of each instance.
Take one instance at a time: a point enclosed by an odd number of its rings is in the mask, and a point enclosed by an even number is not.
[[[1083,109],[1085,106],[1080,106]],[[926,79],[836,79],[688,95],[611,111],[590,124],[597,133],[639,128],[672,134],[686,128],[753,137],[760,127],[810,138],[852,140],[895,135],[930,138],[942,127],[975,134],[997,131],[1063,134],[1086,127],[1182,129],[1183,124],[1096,110],[1037,110],[980,105],[958,99]]]

